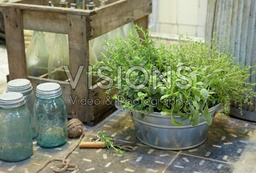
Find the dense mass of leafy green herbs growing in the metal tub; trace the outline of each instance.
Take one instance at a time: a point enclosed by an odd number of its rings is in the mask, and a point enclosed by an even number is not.
[[[135,30],[131,31],[126,39],[116,38],[106,41],[108,51],[102,54],[103,61],[96,63],[93,67],[93,75],[97,74],[100,66],[111,67],[112,71],[104,70],[102,74],[113,79],[113,86],[107,90],[117,88],[118,66],[122,67],[121,89],[118,95],[130,101],[120,101],[123,108],[128,111],[146,113],[161,112],[162,115],[171,115],[172,123],[176,126],[184,125],[183,121],[189,119],[189,124],[193,126],[199,123],[200,113],[212,124],[212,117],[209,109],[217,104],[222,105],[223,113],[230,112],[230,101],[239,104],[252,104],[250,98],[256,96],[253,91],[255,84],[247,82],[255,72],[255,66],[242,66],[236,63],[229,53],[218,51],[221,43],[204,44],[201,41],[193,41],[189,38],[185,42],[179,41],[177,45],[166,46],[161,41],[154,43],[148,30],[136,26],[137,31],[143,36],[138,36]],[[113,46],[114,44],[114,46]],[[112,46],[111,46],[112,45]],[[156,46],[159,45],[159,46]],[[149,82],[142,89],[133,89],[126,83],[125,72],[132,66],[142,66],[149,75]],[[171,66],[171,72],[167,72],[166,67]],[[180,66],[187,66],[189,70],[180,70]],[[152,69],[158,69],[167,78],[171,75],[171,87],[166,87],[160,78],[157,78],[157,87],[152,86]],[[144,74],[140,70],[134,70],[129,76],[129,80],[134,85],[139,85],[144,81]],[[180,84],[190,84],[189,88],[180,88]],[[115,95],[113,98],[118,98]],[[134,104],[133,100],[139,100]],[[178,100],[175,104],[161,102],[161,100]],[[157,104],[155,100],[160,100]],[[181,116],[182,121],[175,121],[175,116]],[[187,123],[186,123],[187,124]]]

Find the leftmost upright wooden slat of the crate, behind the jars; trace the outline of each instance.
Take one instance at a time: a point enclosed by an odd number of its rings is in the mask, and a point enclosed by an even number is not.
[[[23,19],[20,9],[3,8],[10,79],[27,78]]]

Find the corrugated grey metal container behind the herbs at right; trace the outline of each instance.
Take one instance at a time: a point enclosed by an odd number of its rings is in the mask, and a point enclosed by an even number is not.
[[[217,41],[227,39],[231,45],[229,47],[227,43],[222,43],[219,47],[221,51],[232,53],[236,57],[236,63],[255,66],[256,0],[216,0],[215,10],[212,11],[211,7],[214,3],[214,0],[208,0],[206,40],[210,41],[210,35],[216,32]],[[213,14],[215,14],[214,20],[210,17]],[[213,30],[211,30],[212,26]],[[256,68],[250,69],[250,72],[253,71],[256,71]],[[255,83],[256,74],[252,75],[248,82]],[[256,86],[253,86],[253,89],[256,91]],[[253,105],[243,106],[247,115],[256,112],[256,98],[251,98],[251,102]],[[237,108],[238,104],[232,103],[231,106]]]

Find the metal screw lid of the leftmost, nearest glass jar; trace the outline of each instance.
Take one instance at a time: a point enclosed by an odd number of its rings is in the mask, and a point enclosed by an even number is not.
[[[6,92],[0,95],[0,107],[15,108],[25,104],[23,94],[19,92]]]

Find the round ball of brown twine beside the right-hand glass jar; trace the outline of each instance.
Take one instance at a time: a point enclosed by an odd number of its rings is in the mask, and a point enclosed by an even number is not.
[[[67,123],[67,135],[70,138],[76,138],[83,134],[84,125],[79,119],[72,119]]]

